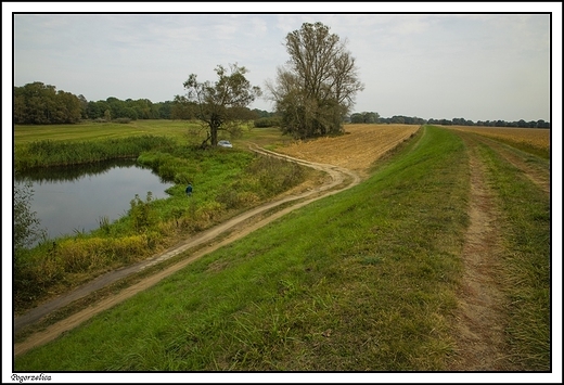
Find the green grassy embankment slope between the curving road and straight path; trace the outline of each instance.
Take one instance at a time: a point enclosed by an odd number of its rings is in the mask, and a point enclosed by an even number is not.
[[[416,140],[364,183],[198,259],[15,369],[444,369],[469,169],[454,133]]]

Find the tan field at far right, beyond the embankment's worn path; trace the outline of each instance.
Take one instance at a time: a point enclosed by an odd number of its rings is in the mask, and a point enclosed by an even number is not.
[[[533,150],[544,158],[550,156],[550,129],[469,126],[450,128],[497,139],[522,150]]]

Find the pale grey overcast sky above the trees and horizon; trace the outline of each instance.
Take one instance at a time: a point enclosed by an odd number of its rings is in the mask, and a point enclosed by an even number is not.
[[[143,3],[82,12],[148,11],[137,4]],[[219,5],[187,4],[181,11],[222,11]],[[328,11],[325,4],[316,3],[315,9]],[[355,11],[354,4],[349,10]],[[399,4],[399,12],[412,10]],[[75,9],[61,9],[69,10]],[[518,8],[505,7],[512,10]],[[347,41],[366,86],[357,94],[355,112],[550,120],[549,14],[15,14],[13,82],[20,87],[41,81],[89,101],[115,97],[163,102],[184,93],[182,84],[190,74],[214,81],[218,64],[238,63],[249,70],[251,82],[264,89],[290,59],[285,36],[304,22],[321,22]],[[260,99],[251,107],[271,111],[273,105]]]

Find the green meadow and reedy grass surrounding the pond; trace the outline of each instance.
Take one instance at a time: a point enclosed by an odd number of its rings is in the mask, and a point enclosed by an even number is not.
[[[154,255],[179,239],[271,198],[311,174],[308,168],[255,156],[245,149],[198,150],[193,144],[200,144],[200,138],[187,136],[189,128],[196,127],[161,120],[16,127],[16,170],[137,157],[175,182],[167,191],[168,198],[131,196],[128,215],[114,222],[100,218],[100,228],[90,233],[43,240],[30,251],[20,251],[14,265],[16,311],[104,271]],[[246,133],[265,134],[268,131]],[[184,194],[188,181],[195,187],[191,200]]]

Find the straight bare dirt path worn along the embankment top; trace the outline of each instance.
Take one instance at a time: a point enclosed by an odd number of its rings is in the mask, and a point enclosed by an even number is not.
[[[451,371],[508,371],[511,364],[504,339],[505,298],[500,277],[500,233],[493,193],[486,167],[477,154],[476,138],[459,133],[470,153],[471,191],[462,260],[464,273],[456,316],[457,354]]]

